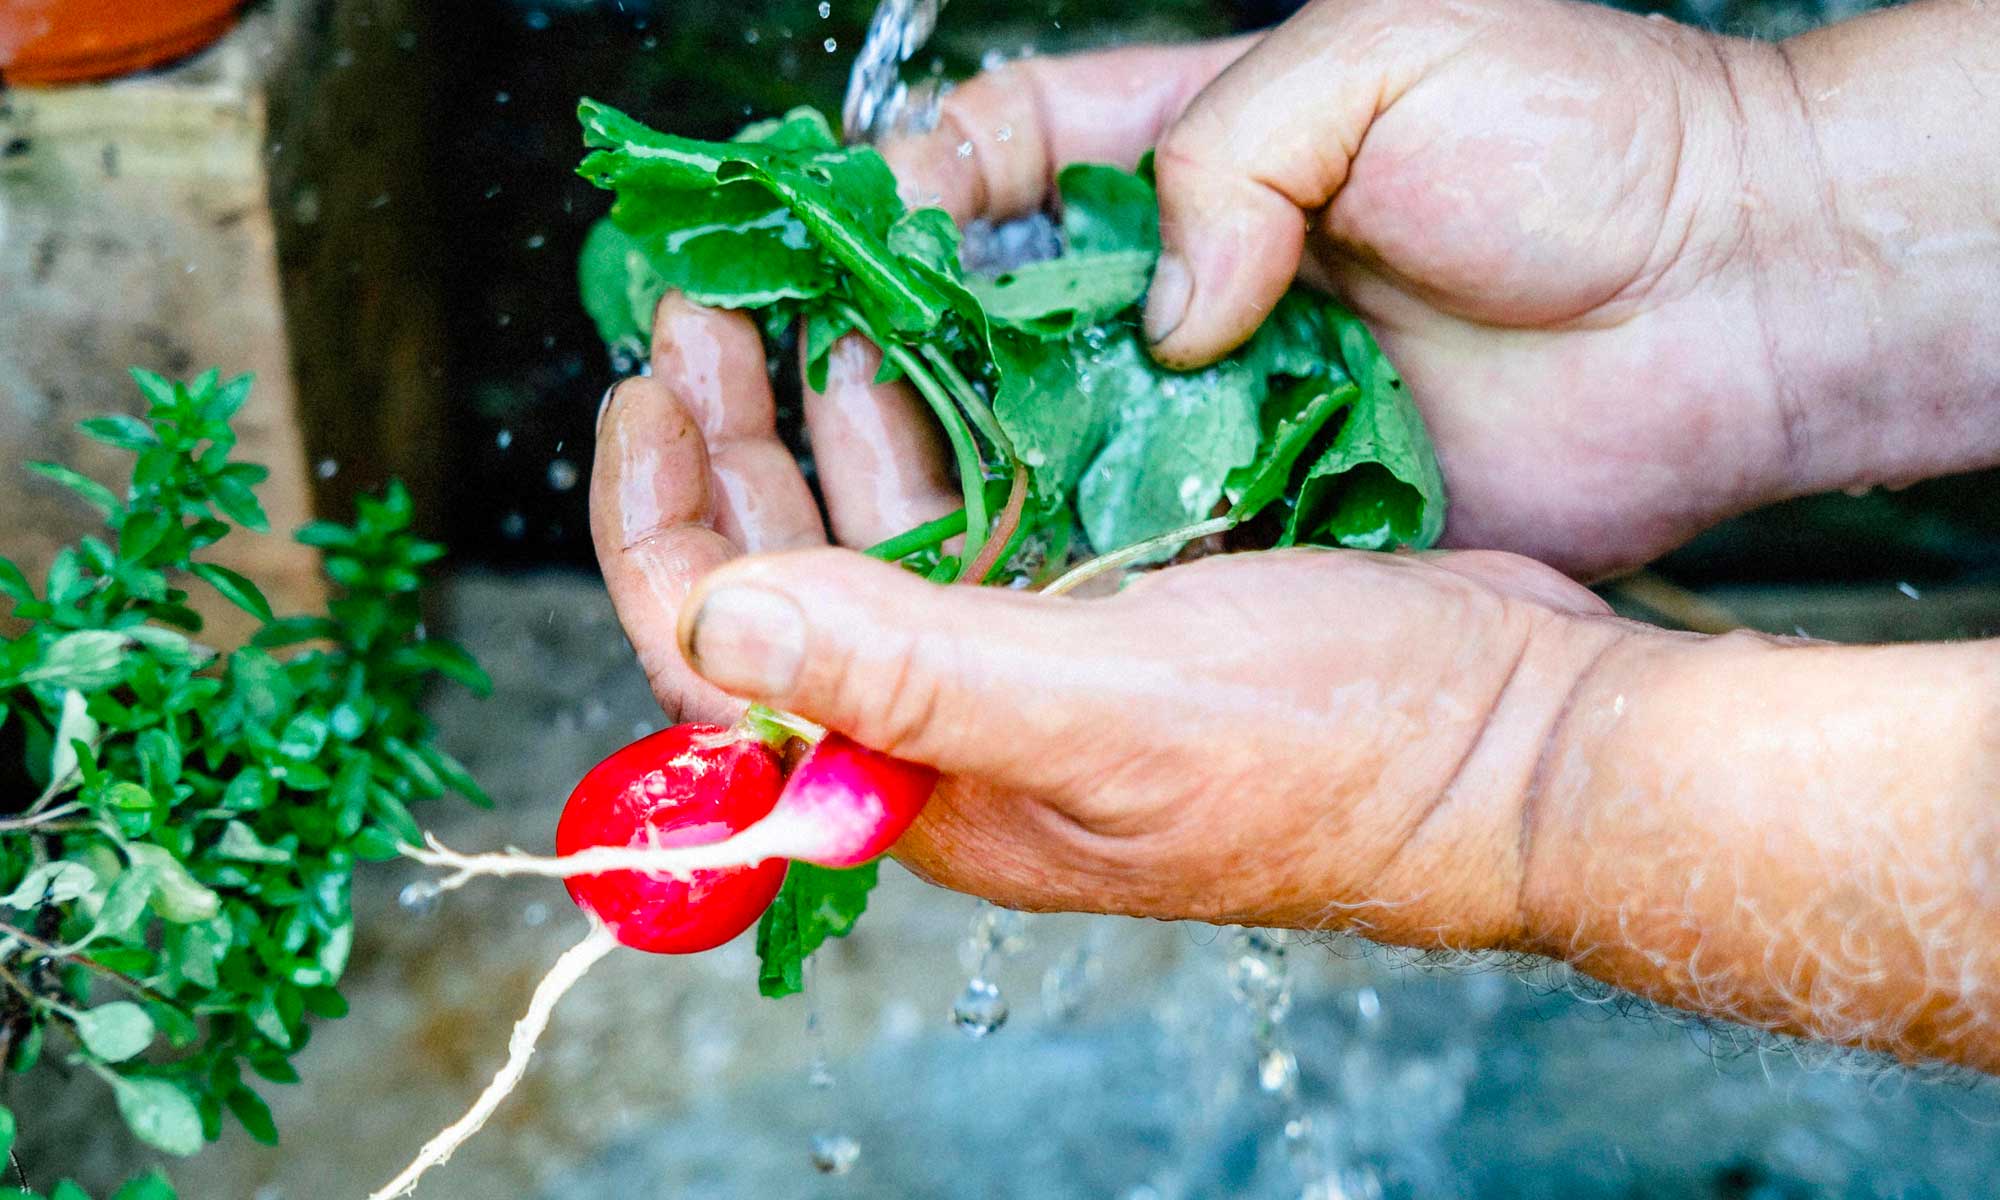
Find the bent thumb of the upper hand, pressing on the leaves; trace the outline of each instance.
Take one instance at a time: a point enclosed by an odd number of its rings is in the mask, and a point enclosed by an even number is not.
[[[1384,24],[1376,8],[1308,6],[1160,140],[1160,264],[1146,296],[1160,362],[1200,366],[1256,332],[1298,274],[1308,216],[1346,182],[1376,114],[1432,60],[1432,38],[1372,28]]]

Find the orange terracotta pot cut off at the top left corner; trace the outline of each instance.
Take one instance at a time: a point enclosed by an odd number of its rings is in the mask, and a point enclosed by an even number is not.
[[[76,84],[214,42],[242,0],[0,0],[0,82]]]

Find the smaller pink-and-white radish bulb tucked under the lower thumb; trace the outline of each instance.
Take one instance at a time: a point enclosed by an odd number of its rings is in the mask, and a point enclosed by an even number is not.
[[[818,866],[860,866],[896,844],[938,786],[930,766],[826,734],[792,768],[778,806],[758,822],[760,842]]]

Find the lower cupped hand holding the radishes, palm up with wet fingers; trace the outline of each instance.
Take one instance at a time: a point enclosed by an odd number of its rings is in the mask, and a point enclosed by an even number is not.
[[[874,366],[850,342],[806,398],[850,544],[954,508],[910,466],[938,460],[908,444],[924,414]],[[766,554],[826,534],[776,440],[762,346],[678,298],[652,376],[606,400],[592,528],[670,714],[766,700],[942,768],[898,856],[1020,908],[1506,944],[1542,742],[1630,628],[1506,554],[1230,556],[1108,600]]]

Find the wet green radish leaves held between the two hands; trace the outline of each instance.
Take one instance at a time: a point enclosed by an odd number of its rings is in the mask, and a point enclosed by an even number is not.
[[[848,334],[882,348],[942,424],[964,508],[870,554],[940,582],[1032,582],[1078,540],[1166,558],[1192,536],[1364,550],[1430,546],[1444,482],[1422,416],[1368,328],[1294,288],[1228,358],[1152,360],[1138,332],[1160,254],[1150,164],[1058,178],[1064,252],[970,276],[936,208],[910,212],[868,146],[798,108],[730,142],[676,138],[594,100],[580,174],[612,192],[580,262],[606,344],[640,354],[666,290],[798,330],[804,372]],[[1254,524],[1252,524],[1254,522]],[[956,554],[952,538],[964,538]],[[874,868],[796,864],[758,930],[760,988],[854,926]]]

